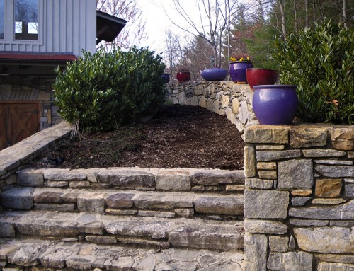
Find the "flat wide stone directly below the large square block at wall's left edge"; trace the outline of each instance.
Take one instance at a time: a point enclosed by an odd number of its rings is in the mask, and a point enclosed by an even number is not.
[[[274,220],[245,219],[244,229],[248,233],[285,234],[287,225]]]

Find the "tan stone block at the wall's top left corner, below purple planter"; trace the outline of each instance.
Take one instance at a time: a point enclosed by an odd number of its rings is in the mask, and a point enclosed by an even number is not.
[[[284,126],[257,125],[245,129],[244,141],[246,143],[289,143],[289,129]]]

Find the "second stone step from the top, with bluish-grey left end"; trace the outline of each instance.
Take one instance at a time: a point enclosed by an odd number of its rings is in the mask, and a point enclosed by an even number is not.
[[[2,205],[11,209],[170,218],[244,216],[242,194],[16,187],[2,192],[0,198]]]

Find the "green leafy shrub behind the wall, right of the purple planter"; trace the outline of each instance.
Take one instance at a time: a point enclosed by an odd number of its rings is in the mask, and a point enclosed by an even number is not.
[[[280,83],[297,85],[300,120],[353,124],[353,28],[325,21],[275,47]]]

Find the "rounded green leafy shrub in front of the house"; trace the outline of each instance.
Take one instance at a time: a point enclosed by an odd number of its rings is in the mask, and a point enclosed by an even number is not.
[[[80,131],[108,131],[135,122],[164,102],[164,64],[148,48],[83,57],[57,69],[53,84],[59,113]]]

